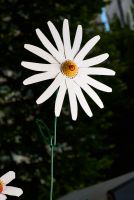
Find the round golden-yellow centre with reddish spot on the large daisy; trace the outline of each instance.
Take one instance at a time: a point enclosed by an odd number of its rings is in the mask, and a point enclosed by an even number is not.
[[[72,60],[66,60],[61,64],[61,72],[68,78],[74,78],[78,74],[78,66]]]

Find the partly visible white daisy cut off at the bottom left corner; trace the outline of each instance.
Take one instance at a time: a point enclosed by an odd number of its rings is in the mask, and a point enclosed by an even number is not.
[[[13,179],[15,179],[15,172],[9,171],[0,177],[0,200],[7,199],[7,195],[17,196],[22,195],[23,191],[20,188],[7,186]]]

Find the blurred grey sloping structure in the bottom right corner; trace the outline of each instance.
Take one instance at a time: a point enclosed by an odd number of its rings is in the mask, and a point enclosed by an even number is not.
[[[134,200],[134,172],[71,192],[58,200]]]

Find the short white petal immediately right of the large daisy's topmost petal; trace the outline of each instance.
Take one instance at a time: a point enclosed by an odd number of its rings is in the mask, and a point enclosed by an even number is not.
[[[72,56],[71,59],[74,59],[75,55],[78,53],[80,49],[81,41],[82,41],[82,26],[78,25],[76,34],[75,34],[73,47],[71,50],[71,56]]]

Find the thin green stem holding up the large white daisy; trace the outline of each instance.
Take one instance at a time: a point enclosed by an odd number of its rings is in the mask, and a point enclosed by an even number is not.
[[[54,119],[54,138],[51,137],[51,186],[50,186],[50,200],[53,199],[53,175],[54,175],[54,148],[56,146],[56,130],[57,130],[57,117]]]

